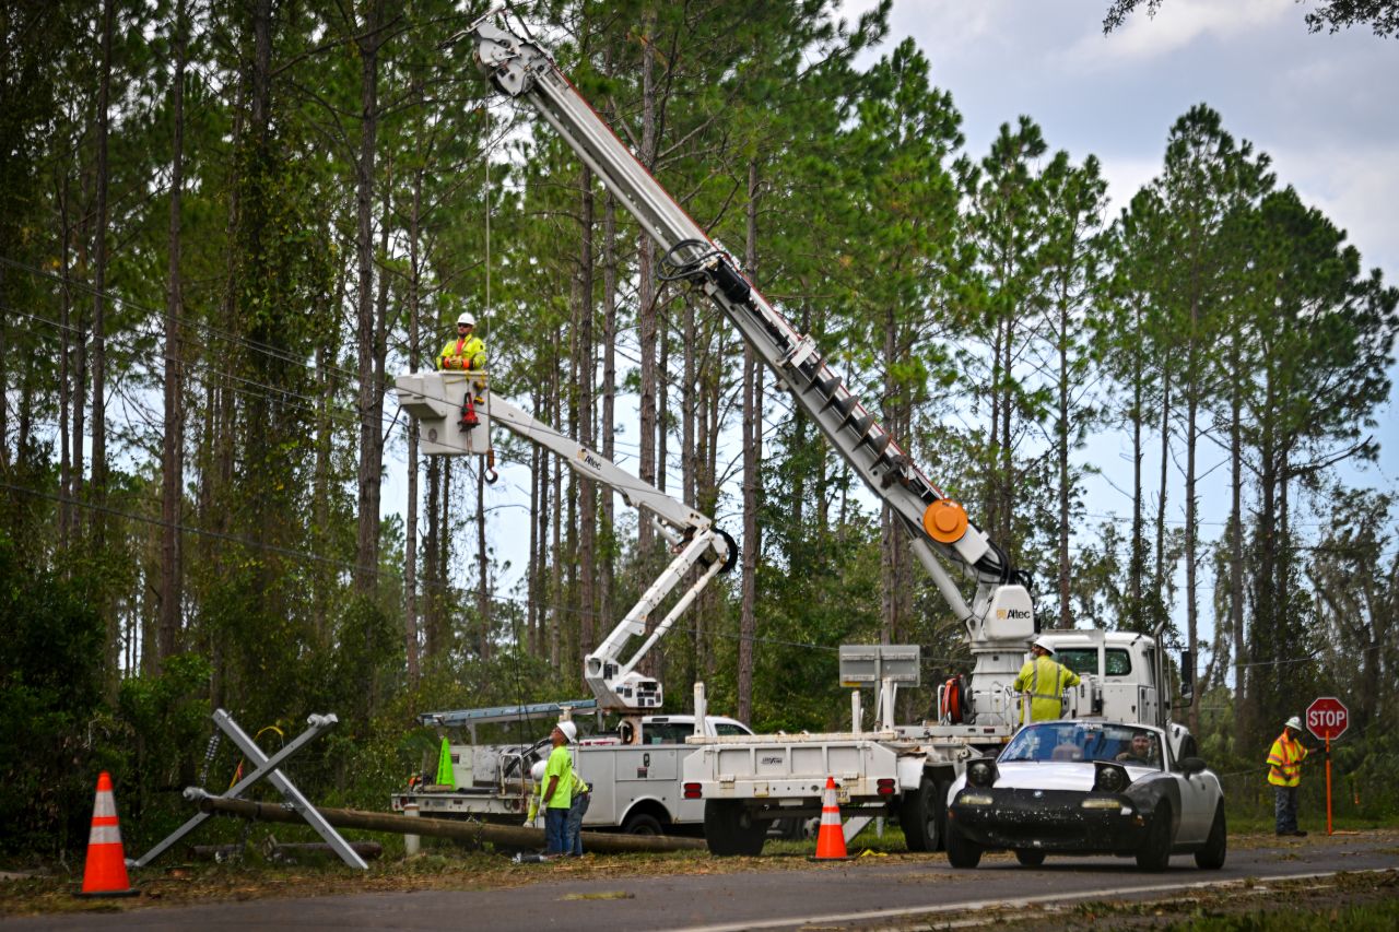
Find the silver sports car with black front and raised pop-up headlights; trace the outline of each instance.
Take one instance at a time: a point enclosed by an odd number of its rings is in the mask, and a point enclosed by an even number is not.
[[[947,861],[975,868],[983,851],[1009,848],[1025,866],[1048,854],[1112,854],[1164,870],[1172,854],[1193,854],[1200,868],[1221,868],[1224,793],[1193,753],[1179,725],[1027,725],[953,784]]]

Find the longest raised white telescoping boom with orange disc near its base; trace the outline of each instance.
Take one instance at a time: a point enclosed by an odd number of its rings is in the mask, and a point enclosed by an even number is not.
[[[631,154],[616,133],[534,42],[487,14],[467,31],[476,62],[502,94],[532,105],[645,231],[659,243],[663,278],[684,280],[729,318],[806,414],[873,493],[890,505],[914,551],[975,640],[997,617],[1025,620],[1032,609],[1021,574],[965,511],[933,486],[799,333],[734,267],[700,225]],[[978,585],[971,606],[939,560],[961,567]],[[1007,616],[1007,613],[1010,613]]]

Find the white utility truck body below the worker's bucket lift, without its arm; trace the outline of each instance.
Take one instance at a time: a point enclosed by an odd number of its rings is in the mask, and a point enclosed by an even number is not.
[[[571,708],[588,708],[579,701]],[[569,705],[569,704],[562,704]],[[483,709],[485,711],[485,709]],[[435,723],[466,723],[450,716],[464,714],[429,712],[420,719]],[[484,719],[477,718],[474,723]],[[694,749],[686,740],[695,736],[694,715],[642,716],[641,736],[623,744],[618,735],[583,736],[575,746],[574,764],[593,788],[583,827],[620,828],[641,835],[698,833],[704,824],[704,800],[684,799],[680,788],[681,761]],[[541,730],[547,730],[547,725]],[[722,715],[706,715],[704,736],[719,740],[751,736],[748,726]],[[533,744],[449,744],[453,786],[416,784],[395,793],[393,809],[417,806],[418,814],[439,819],[478,819],[520,824],[537,792],[529,777],[536,760],[548,756],[548,737]]]

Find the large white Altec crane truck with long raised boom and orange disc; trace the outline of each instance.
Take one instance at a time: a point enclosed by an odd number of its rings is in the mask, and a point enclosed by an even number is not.
[[[908,532],[918,561],[967,634],[972,673],[967,683],[939,690],[936,719],[893,722],[893,684],[881,690],[880,722],[865,730],[803,736],[694,737],[686,760],[686,795],[705,800],[705,837],[715,854],[755,854],[765,823],[820,812],[828,775],[841,784],[842,810],[897,814],[909,848],[942,842],[946,795],[964,763],[993,753],[1018,726],[1011,683],[1035,633],[1027,574],[974,525],[894,442],[874,413],[823,360],[809,334],[796,330],[739,271],[679,206],[533,41],[497,25],[494,14],[464,34],[476,62],[506,97],[534,108],[578,154],[620,204],[656,241],[662,277],[704,294],[743,334],[779,388],[811,418],[835,451],[865,480]],[[953,570],[975,585],[968,600]],[[1163,714],[1163,661],[1143,635],[1065,633],[1090,641],[1097,663],[1067,697],[1069,714],[1119,715],[1153,721]],[[1122,640],[1126,638],[1126,640]],[[1126,651],[1129,672],[1107,666]],[[1112,697],[1130,694],[1130,702]]]

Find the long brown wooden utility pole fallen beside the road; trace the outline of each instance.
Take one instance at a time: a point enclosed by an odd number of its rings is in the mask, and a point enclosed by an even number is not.
[[[299,823],[304,820],[302,814],[288,810],[278,803],[227,799],[203,793],[203,791],[192,793],[193,789],[186,791],[185,795],[196,802],[204,813],[241,816],[242,819],[260,821]],[[455,838],[457,841],[491,841],[519,848],[537,848],[544,844],[544,831],[541,828],[498,826],[484,821],[457,821],[455,819],[392,816],[382,812],[362,812],[358,809],[318,809],[318,812],[327,824],[336,828],[389,831],[400,835],[432,835],[436,838]],[[585,831],[582,833],[582,840],[592,851],[609,854],[705,849],[705,844],[700,838],[674,838],[670,835],[623,835]]]

